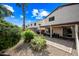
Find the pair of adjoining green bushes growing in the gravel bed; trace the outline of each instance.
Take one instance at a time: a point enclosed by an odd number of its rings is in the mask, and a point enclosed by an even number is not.
[[[34,51],[41,51],[46,48],[46,40],[44,36],[39,36],[32,30],[27,29],[23,33],[25,43],[30,43],[30,48]]]

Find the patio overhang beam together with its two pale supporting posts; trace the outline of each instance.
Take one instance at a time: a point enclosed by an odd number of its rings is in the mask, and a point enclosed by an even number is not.
[[[50,28],[50,37],[52,37],[52,28],[55,27],[71,27],[73,36],[75,37],[76,42],[76,51],[77,55],[79,56],[79,21],[78,22],[68,22],[68,23],[62,23],[62,24],[49,24],[49,25],[43,25],[40,27],[49,27]]]

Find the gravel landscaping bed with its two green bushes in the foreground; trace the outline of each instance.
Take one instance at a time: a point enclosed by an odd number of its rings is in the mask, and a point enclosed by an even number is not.
[[[71,54],[62,51],[56,47],[46,44],[44,36],[34,33],[32,30],[27,29],[20,33],[22,40],[21,44],[14,49],[9,49],[4,52],[10,56],[69,56]],[[15,38],[15,37],[14,37]],[[12,41],[11,41],[12,42]],[[10,47],[9,47],[10,48]]]

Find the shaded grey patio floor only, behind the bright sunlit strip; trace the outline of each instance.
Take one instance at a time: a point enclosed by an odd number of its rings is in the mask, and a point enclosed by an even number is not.
[[[61,38],[50,38],[48,36],[45,36],[45,37],[48,41],[51,41],[51,42],[54,42],[54,43],[57,43],[57,44],[60,44],[60,45],[63,45],[63,46],[69,47],[69,48],[76,49],[75,40],[68,40],[68,39],[61,39]]]

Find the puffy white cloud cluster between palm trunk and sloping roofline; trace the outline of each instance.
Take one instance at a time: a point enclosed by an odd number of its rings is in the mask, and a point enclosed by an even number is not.
[[[32,14],[32,17],[35,17],[36,19],[43,19],[43,17],[47,16],[49,12],[44,9],[33,9]]]

